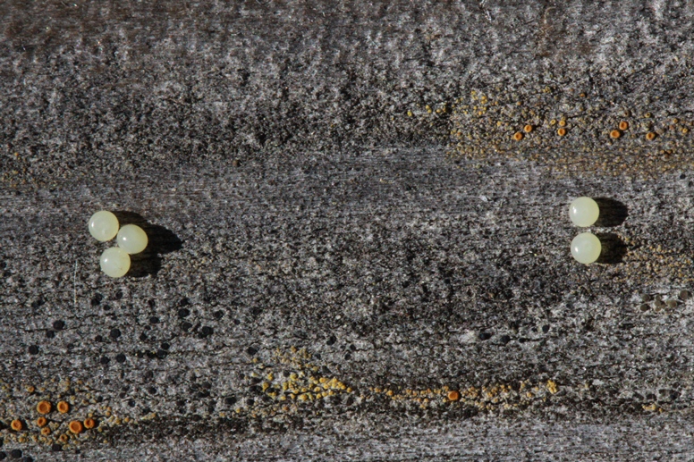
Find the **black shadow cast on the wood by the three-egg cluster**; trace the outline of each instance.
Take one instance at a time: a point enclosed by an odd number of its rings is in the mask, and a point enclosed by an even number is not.
[[[128,276],[142,278],[147,275],[156,276],[162,267],[162,256],[181,250],[183,242],[173,231],[167,230],[164,226],[148,223],[142,215],[134,212],[114,212],[118,223],[137,224],[147,233],[148,244],[139,254],[131,255],[131,269]]]

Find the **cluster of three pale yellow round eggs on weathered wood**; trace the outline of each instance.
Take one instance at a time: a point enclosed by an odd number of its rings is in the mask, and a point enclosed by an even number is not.
[[[136,224],[126,224],[122,228],[118,218],[111,212],[101,210],[89,218],[89,234],[100,242],[114,239],[118,247],[106,248],[99,258],[101,271],[112,278],[120,278],[128,273],[130,256],[139,254],[147,248],[147,233]]]

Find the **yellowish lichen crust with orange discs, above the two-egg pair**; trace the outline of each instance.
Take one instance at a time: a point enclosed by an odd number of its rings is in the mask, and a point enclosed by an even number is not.
[[[545,167],[558,178],[586,172],[655,178],[694,167],[694,121],[682,117],[675,124],[644,107],[624,108],[615,118],[609,101],[577,88],[497,85],[468,95],[448,105],[446,117],[447,154],[461,169],[512,160]]]

